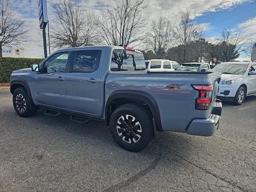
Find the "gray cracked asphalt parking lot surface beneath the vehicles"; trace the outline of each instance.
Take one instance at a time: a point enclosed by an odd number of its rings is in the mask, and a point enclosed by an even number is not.
[[[104,123],[21,118],[8,90],[0,101],[0,191],[256,191],[256,96],[224,103],[212,137],[163,132],[138,153]]]

